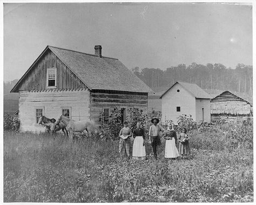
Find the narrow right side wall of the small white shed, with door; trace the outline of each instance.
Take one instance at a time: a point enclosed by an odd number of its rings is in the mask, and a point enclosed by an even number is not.
[[[203,111],[204,108],[204,122],[211,121],[211,106],[210,99],[196,99],[196,121],[203,121]]]

